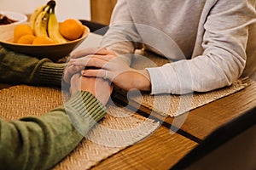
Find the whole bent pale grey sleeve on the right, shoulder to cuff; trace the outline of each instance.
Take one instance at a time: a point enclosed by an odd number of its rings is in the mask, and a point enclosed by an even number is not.
[[[248,26],[255,20],[255,10],[248,4],[218,1],[203,25],[202,42],[195,44],[198,53],[192,59],[148,69],[152,94],[207,92],[241,77],[247,58],[252,57],[246,53]]]

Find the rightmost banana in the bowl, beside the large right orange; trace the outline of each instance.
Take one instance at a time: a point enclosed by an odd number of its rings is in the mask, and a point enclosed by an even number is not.
[[[55,15],[55,10],[54,8],[51,9],[48,21],[48,35],[55,43],[67,42],[67,40],[61,36],[61,32],[59,31],[59,23]]]

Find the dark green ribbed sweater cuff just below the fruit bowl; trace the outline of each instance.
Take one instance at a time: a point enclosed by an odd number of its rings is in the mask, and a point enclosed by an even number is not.
[[[40,84],[61,87],[64,63],[45,62],[38,71]]]

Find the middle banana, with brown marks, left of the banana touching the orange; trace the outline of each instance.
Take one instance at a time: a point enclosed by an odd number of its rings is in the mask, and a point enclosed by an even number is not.
[[[50,6],[46,5],[44,10],[40,14],[38,14],[38,17],[34,24],[34,32],[37,37],[39,36],[48,37],[47,25],[49,20],[49,9],[50,9]]]

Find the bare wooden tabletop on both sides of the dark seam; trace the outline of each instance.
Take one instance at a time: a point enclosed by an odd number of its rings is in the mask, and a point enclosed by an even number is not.
[[[255,105],[256,84],[253,83],[236,94],[190,111],[177,133],[170,133],[173,118],[167,117],[148,139],[120,151],[92,169],[169,169],[216,128]],[[143,116],[151,113],[146,108],[140,108],[138,112]]]

